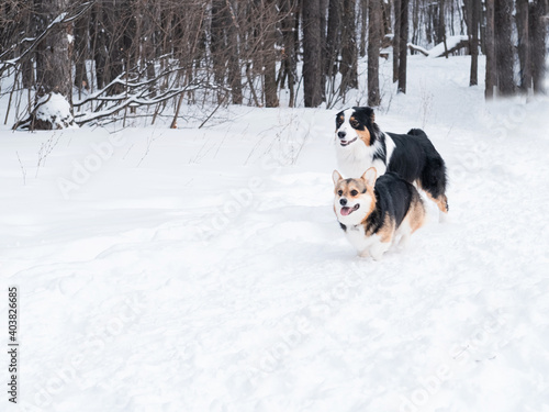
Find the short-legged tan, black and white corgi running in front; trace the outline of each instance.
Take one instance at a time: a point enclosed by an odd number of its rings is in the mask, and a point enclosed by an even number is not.
[[[334,212],[347,240],[361,257],[381,259],[391,245],[404,246],[425,222],[416,188],[394,172],[378,178],[374,167],[358,179],[334,170]]]

